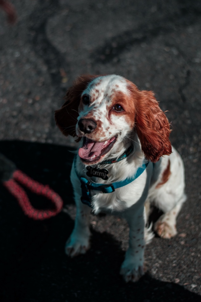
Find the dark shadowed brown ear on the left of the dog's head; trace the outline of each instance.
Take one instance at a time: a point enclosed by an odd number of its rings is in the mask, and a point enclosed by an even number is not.
[[[82,75],[75,80],[73,86],[68,89],[65,96],[65,103],[62,108],[55,111],[55,121],[61,132],[68,136],[76,136],[75,126],[79,116],[78,107],[80,96],[87,85],[98,75]]]

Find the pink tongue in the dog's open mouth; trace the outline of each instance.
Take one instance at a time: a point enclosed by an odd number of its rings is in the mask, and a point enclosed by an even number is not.
[[[100,155],[104,143],[105,142],[93,142],[91,139],[88,139],[84,143],[83,147],[79,148],[79,157],[87,160],[92,158],[94,155]]]

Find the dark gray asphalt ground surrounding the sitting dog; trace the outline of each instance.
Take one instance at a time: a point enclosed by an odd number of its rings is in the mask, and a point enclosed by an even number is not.
[[[201,301],[201,2],[12,3],[15,25],[0,10],[0,152],[65,205],[54,219],[34,222],[2,188],[3,301]],[[113,73],[155,92],[186,168],[178,235],[153,239],[148,272],[136,284],[118,275],[128,236],[121,219],[92,216],[92,250],[64,255],[75,218],[68,152],[75,142],[56,127],[54,110],[80,74]]]

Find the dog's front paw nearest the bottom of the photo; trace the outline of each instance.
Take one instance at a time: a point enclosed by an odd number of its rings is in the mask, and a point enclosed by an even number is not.
[[[120,274],[123,276],[126,282],[136,282],[144,275],[145,271],[146,268],[143,265],[138,266],[135,263],[125,265],[123,262]]]

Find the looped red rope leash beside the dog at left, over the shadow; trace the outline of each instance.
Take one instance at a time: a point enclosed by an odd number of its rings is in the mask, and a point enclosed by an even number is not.
[[[33,193],[43,195],[46,198],[50,199],[53,202],[55,209],[35,209],[31,205],[24,189],[15,180],[30,189],[30,191],[32,191]],[[29,218],[33,218],[35,220],[43,220],[57,215],[62,210],[63,201],[57,193],[50,189],[48,185],[42,185],[39,182],[34,181],[32,178],[28,177],[20,170],[15,170],[13,172],[13,177],[8,181],[4,181],[3,185],[18,200],[19,205],[24,211],[24,214]]]

